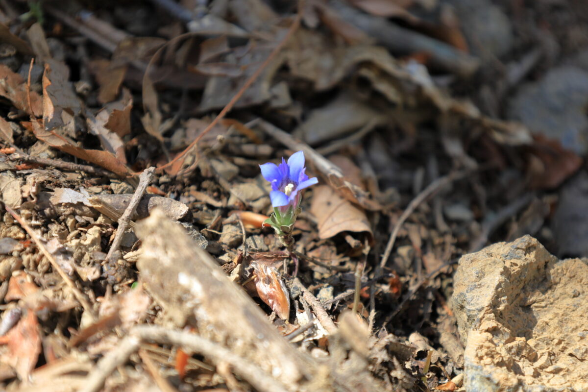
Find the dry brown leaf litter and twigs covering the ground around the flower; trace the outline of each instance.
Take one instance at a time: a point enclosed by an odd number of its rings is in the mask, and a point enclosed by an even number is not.
[[[4,2],[0,386],[463,388],[456,260],[526,233],[586,256],[566,70],[588,42],[564,39],[580,19],[551,24],[560,61],[536,19],[492,5],[536,35],[493,46],[509,31],[462,3]],[[300,150],[319,185],[284,250],[259,165]]]

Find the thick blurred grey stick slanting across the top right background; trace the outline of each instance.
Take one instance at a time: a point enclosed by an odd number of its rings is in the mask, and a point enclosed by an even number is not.
[[[472,75],[480,66],[480,60],[475,56],[461,52],[447,43],[397,26],[382,16],[365,14],[340,0],[329,1],[329,6],[335,9],[343,21],[368,33],[391,51],[404,54],[429,53],[435,65],[463,76]]]

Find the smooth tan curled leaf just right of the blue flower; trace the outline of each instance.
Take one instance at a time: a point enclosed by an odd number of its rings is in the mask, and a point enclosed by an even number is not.
[[[320,239],[341,232],[367,232],[372,237],[372,229],[363,210],[343,199],[330,186],[319,185],[313,189],[310,213],[318,221]]]

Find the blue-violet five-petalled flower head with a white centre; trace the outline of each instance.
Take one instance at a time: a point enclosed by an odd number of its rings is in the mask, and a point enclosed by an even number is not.
[[[288,163],[282,158],[280,165],[264,163],[259,165],[263,178],[272,184],[269,198],[273,207],[279,207],[280,212],[294,210],[300,204],[300,190],[319,182],[316,177],[309,178],[304,167],[304,152],[298,151],[288,158]]]

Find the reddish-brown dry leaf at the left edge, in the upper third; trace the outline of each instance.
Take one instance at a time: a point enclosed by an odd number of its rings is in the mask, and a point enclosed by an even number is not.
[[[0,96],[10,100],[16,109],[35,117],[41,117],[43,115],[41,96],[34,91],[30,92],[31,108],[29,109],[27,91],[25,79],[18,73],[12,72],[4,64],[0,64]]]

